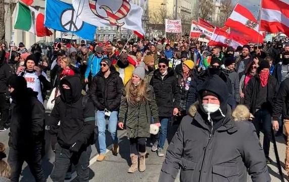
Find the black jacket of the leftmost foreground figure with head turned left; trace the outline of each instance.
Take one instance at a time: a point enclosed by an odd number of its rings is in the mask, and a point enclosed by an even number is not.
[[[37,92],[28,88],[23,100],[13,100],[9,110],[11,122],[9,146],[29,149],[41,145],[45,132],[45,108],[37,99]]]

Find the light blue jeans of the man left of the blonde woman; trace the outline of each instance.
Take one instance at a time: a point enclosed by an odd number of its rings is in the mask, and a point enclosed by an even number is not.
[[[117,111],[112,111],[110,116],[108,117],[108,130],[111,134],[113,144],[118,143],[116,126],[117,126]],[[95,113],[95,120],[97,121],[97,125],[99,128],[99,144],[100,144],[100,153],[105,154],[107,151],[106,145],[106,117],[105,111],[98,110]]]

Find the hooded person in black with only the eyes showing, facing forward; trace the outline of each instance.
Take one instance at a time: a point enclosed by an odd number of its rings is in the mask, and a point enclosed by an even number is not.
[[[51,112],[49,132],[57,135],[53,181],[64,181],[70,166],[76,167],[79,181],[89,180],[90,144],[94,132],[92,100],[81,95],[80,78],[66,76],[60,81],[60,97]]]

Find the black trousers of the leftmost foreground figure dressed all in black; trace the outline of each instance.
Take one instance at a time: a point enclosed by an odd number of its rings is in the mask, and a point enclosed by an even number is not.
[[[28,148],[30,147],[23,149],[14,149],[13,147],[10,147],[8,155],[8,163],[12,170],[10,180],[12,182],[19,181],[22,165],[25,161],[27,162],[36,182],[46,181],[41,166],[41,145],[33,147],[32,150],[29,150]]]

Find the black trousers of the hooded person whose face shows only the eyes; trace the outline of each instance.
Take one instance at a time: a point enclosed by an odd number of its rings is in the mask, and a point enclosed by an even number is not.
[[[55,145],[54,168],[50,175],[54,182],[63,182],[65,174],[71,164],[75,165],[79,181],[89,181],[89,157],[91,154],[90,145],[78,153],[72,153],[68,149],[62,148],[58,143]]]

